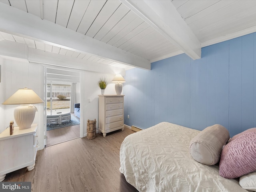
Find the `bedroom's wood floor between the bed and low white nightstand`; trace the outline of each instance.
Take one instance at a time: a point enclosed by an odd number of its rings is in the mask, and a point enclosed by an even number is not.
[[[31,182],[32,192],[138,192],[119,172],[120,145],[132,134],[124,128],[77,138],[38,151],[34,170],[6,174],[5,182]]]

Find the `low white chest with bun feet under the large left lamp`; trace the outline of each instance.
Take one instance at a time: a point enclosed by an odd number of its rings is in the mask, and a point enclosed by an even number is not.
[[[10,135],[10,128],[0,134],[0,181],[6,174],[27,167],[29,171],[34,169],[38,124],[32,124],[31,128],[19,129],[14,127],[14,133]]]

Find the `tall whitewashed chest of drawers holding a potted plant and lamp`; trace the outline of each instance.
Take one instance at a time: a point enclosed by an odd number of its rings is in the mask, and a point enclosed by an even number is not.
[[[99,95],[99,132],[124,130],[124,95]]]

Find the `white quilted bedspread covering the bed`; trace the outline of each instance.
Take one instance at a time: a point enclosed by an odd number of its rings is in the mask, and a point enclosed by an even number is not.
[[[237,180],[219,175],[218,166],[189,154],[198,130],[162,122],[127,136],[120,148],[120,172],[140,192],[246,192]]]

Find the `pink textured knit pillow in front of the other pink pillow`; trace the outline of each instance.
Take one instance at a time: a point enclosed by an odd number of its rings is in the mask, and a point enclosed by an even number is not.
[[[229,179],[256,171],[256,130],[242,134],[224,146],[219,168],[220,176]]]

